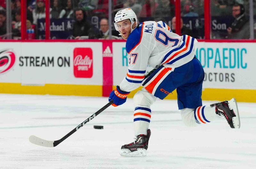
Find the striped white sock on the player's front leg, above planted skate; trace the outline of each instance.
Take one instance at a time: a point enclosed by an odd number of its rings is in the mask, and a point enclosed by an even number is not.
[[[147,135],[150,119],[151,119],[150,107],[148,106],[135,107],[134,119],[133,119],[135,137],[140,134]]]

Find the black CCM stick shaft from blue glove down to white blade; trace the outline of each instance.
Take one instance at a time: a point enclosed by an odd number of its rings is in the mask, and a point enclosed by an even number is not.
[[[107,109],[111,104],[113,104],[113,100],[108,102],[105,106],[103,106],[100,110],[98,110],[96,113],[94,113],[92,116],[90,116],[88,119],[84,120],[83,123],[79,124],[76,128],[74,128],[72,131],[70,131],[68,134],[66,134],[64,137],[62,137],[60,140],[54,141],[53,142],[53,147],[57,146],[61,142],[63,142],[66,138],[68,138],[71,134],[75,133],[79,128],[83,127],[87,122],[92,120],[94,117],[99,115],[102,111]]]

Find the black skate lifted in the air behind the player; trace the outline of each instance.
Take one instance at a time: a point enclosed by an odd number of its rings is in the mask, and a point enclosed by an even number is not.
[[[211,104],[211,107],[213,106],[215,106],[216,114],[224,116],[231,128],[240,128],[240,117],[235,98]]]

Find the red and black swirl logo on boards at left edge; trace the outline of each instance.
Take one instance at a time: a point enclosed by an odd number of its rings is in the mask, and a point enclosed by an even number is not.
[[[12,68],[15,63],[15,54],[11,49],[0,51],[0,74]]]

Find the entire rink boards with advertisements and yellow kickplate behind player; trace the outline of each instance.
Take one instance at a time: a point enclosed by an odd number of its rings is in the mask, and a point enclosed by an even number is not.
[[[256,102],[255,52],[253,42],[199,42],[202,99]],[[108,96],[128,62],[125,42],[0,42],[0,93]]]

